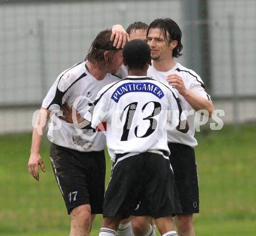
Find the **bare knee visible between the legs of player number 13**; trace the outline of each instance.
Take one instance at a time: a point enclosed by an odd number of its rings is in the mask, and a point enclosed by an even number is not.
[[[137,216],[133,217],[131,223],[133,234],[136,236],[144,235],[148,232],[151,217]]]

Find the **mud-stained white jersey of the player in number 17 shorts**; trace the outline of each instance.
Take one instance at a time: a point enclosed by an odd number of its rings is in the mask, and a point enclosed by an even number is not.
[[[83,61],[63,71],[45,99],[42,107],[49,111],[59,111],[62,104],[73,106],[83,116],[90,108],[99,90],[109,83],[118,81],[118,77],[106,74],[101,81],[95,79],[86,69]],[[105,135],[95,130],[80,130],[62,121],[56,114],[52,115],[48,139],[59,146],[88,152],[101,151],[105,147]]]

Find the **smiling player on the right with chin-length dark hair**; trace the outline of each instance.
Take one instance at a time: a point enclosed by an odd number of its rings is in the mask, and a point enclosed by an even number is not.
[[[168,130],[168,146],[183,210],[175,217],[177,230],[182,236],[193,236],[193,213],[199,212],[197,165],[193,149],[197,146],[194,112],[205,110],[211,116],[214,106],[200,76],[175,61],[176,57],[182,55],[181,39],[182,32],[172,19],[156,19],[150,24],[147,42],[151,49],[152,67],[148,70],[148,76],[175,87],[182,109],[188,111],[189,132]]]

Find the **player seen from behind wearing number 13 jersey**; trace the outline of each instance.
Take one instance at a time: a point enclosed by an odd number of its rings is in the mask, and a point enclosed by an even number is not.
[[[160,233],[174,236],[172,214],[180,206],[173,194],[166,124],[187,132],[187,126],[179,128],[186,118],[172,88],[147,77],[151,62],[147,43],[128,42],[123,57],[129,76],[101,89],[91,119],[93,128],[107,122],[106,142],[114,162],[99,235],[115,235],[120,220],[143,201]],[[90,120],[90,112],[84,118]]]

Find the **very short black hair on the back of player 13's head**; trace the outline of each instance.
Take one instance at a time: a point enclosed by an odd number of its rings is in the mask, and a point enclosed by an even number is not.
[[[133,39],[123,48],[123,61],[130,69],[143,69],[150,60],[150,46],[141,39]]]

